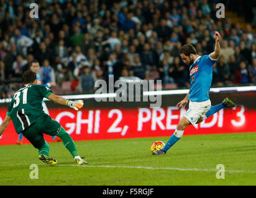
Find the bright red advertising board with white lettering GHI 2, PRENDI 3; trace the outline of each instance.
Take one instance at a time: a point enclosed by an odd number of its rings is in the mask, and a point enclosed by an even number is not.
[[[49,108],[50,116],[62,124],[73,140],[171,136],[185,112],[175,106],[93,108],[81,111]],[[221,110],[203,123],[186,128],[184,135],[255,132],[255,113],[256,110],[247,110],[244,106]],[[6,108],[0,108],[0,123],[5,116]],[[17,137],[11,122],[0,138],[0,145],[15,144]],[[45,139],[52,141],[47,135]],[[25,143],[28,141],[25,140]]]

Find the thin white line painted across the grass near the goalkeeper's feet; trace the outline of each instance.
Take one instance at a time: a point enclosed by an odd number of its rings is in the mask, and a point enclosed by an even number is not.
[[[43,165],[43,164],[42,164]],[[48,166],[48,165],[45,165]],[[112,165],[53,165],[53,166],[79,166],[85,168],[136,168],[147,170],[176,170],[176,171],[207,171],[216,172],[217,169],[200,169],[200,168],[172,168],[172,167],[152,167],[152,166],[112,166]],[[227,173],[256,173],[256,171],[245,170],[225,170]]]

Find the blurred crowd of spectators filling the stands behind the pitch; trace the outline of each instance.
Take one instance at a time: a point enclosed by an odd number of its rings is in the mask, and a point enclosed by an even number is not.
[[[30,4],[39,19],[30,18]],[[163,88],[188,88],[189,67],[179,49],[192,44],[199,55],[214,51],[213,86],[256,84],[255,1],[214,0],[0,0],[1,97],[19,87],[36,59],[43,84],[58,93],[93,93],[108,79],[161,79]]]

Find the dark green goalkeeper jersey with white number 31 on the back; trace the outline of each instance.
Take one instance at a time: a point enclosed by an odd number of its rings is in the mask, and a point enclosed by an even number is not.
[[[52,93],[50,88],[43,85],[29,84],[21,87],[12,96],[7,115],[11,116],[17,134],[48,116],[43,111],[42,100]]]

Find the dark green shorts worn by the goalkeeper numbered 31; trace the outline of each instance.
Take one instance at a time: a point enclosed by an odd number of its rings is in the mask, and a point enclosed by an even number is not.
[[[55,119],[50,118],[47,114],[40,117],[34,124],[27,127],[22,134],[29,140],[29,142],[36,148],[40,149],[45,145],[43,134],[49,136],[56,136],[62,126]]]

